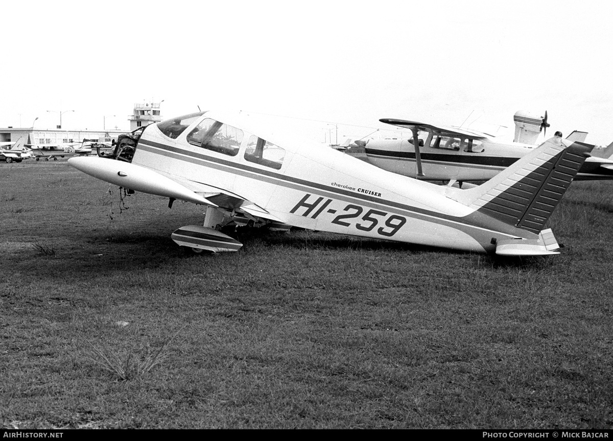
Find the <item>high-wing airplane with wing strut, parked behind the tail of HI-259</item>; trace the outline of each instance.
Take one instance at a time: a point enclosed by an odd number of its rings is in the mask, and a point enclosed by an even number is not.
[[[437,127],[416,121],[384,118],[381,122],[413,132],[412,139],[358,141],[368,160],[388,171],[421,180],[458,182],[491,179],[540,144],[546,133],[547,112],[536,116],[525,111],[514,115],[515,138],[511,143],[483,132],[459,127]],[[559,133],[559,132],[558,132]],[[585,141],[585,132],[573,132],[569,141]],[[575,179],[613,179],[613,143],[593,150]],[[466,187],[466,186],[465,186]]]

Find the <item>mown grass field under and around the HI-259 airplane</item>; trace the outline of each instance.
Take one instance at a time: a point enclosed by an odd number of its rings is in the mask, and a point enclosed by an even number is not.
[[[613,182],[562,254],[321,232],[170,240],[202,207],[0,164],[3,428],[613,428]]]

